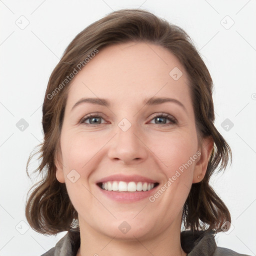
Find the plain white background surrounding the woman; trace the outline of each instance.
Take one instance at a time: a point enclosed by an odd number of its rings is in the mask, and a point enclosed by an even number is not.
[[[255,255],[255,0],[0,0],[1,256],[41,255],[65,234],[44,236],[24,223],[26,193],[36,181],[29,180],[25,166],[43,139],[41,107],[47,81],[78,32],[112,10],[138,7],[181,26],[212,75],[215,125],[233,152],[231,166],[211,179],[234,227],[229,234],[218,234],[216,242]],[[234,21],[229,29],[232,20],[226,15]],[[25,22],[29,24],[20,29]],[[29,125],[24,131],[16,127],[21,118]],[[221,126],[226,118],[234,124],[228,131]],[[37,164],[33,159],[30,173]]]

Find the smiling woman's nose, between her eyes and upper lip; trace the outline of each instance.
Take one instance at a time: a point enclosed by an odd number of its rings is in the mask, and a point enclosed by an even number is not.
[[[127,121],[122,124],[128,125]],[[131,124],[126,130],[119,123],[115,131],[116,135],[111,139],[108,148],[108,157],[111,160],[119,160],[124,164],[132,164],[144,161],[147,158],[148,147],[144,141],[145,136],[137,125]]]

